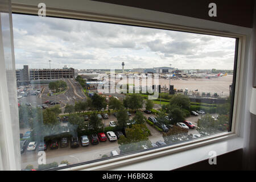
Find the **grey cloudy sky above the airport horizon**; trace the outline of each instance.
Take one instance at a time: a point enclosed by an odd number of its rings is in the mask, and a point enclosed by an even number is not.
[[[13,14],[16,68],[233,69],[235,39]]]

